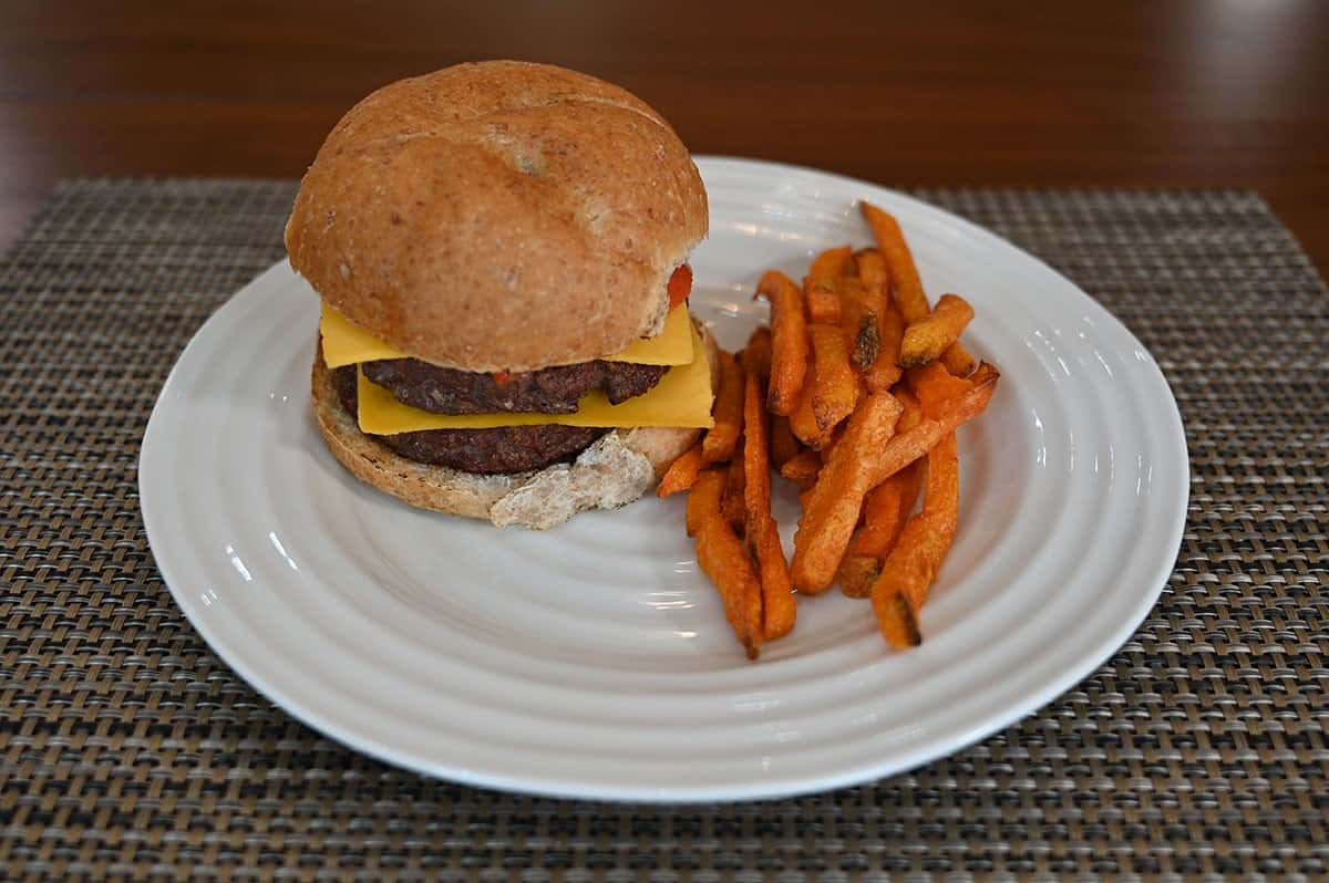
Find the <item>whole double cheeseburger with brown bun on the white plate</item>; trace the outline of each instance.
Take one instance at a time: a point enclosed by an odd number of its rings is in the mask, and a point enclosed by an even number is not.
[[[323,438],[361,481],[496,524],[637,499],[711,425],[687,312],[706,231],[687,149],[607,82],[492,61],[375,92],[286,227],[322,300]]]

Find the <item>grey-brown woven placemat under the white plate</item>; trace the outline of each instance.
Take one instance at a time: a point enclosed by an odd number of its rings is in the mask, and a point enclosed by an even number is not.
[[[8,879],[886,880],[1329,870],[1329,296],[1245,193],[926,191],[1112,309],[1180,402],[1162,602],[1049,708],[914,773],[641,807],[431,781],[296,724],[185,623],[137,511],[189,336],[282,256],[290,183],[62,186],[0,263]]]

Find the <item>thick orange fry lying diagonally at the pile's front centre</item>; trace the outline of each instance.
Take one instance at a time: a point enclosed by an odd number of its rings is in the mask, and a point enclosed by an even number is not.
[[[863,469],[872,454],[888,445],[904,406],[890,393],[868,396],[849,418],[844,437],[821,467],[809,506],[793,538],[789,576],[800,592],[824,591],[835,579],[840,559],[859,523],[863,498],[877,483]]]

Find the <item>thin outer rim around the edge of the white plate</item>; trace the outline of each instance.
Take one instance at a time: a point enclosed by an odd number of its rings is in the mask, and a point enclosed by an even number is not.
[[[764,159],[750,159],[743,157],[730,157],[730,155],[694,155],[698,166],[702,169],[711,167],[715,171],[722,171],[726,169],[743,170],[744,173],[758,173],[764,177],[771,175],[795,175],[800,179],[815,182],[816,179],[831,179],[840,186],[852,187],[860,190],[865,197],[872,198],[870,194],[885,193],[889,194],[892,199],[910,203],[913,207],[922,208],[926,212],[940,214],[948,223],[953,223],[960,227],[966,236],[974,236],[981,242],[987,244],[995,244],[1003,250],[1010,250],[1018,254],[1021,258],[1034,262],[1043,271],[1053,274],[1057,279],[1078,293],[1080,297],[1092,304],[1102,316],[1106,316],[1115,325],[1112,331],[1122,335],[1124,340],[1134,343],[1135,347],[1142,352],[1148,352],[1148,349],[1140,343],[1140,340],[1126,327],[1107,307],[1088,295],[1082,287],[1074,283],[1071,279],[1065,276],[1057,268],[1051,267],[1043,262],[1037,255],[1021,248],[1015,243],[998,236],[997,234],[981,227],[979,224],[960,216],[946,208],[932,204],[922,199],[918,199],[908,193],[901,193],[898,190],[885,187],[869,181],[863,181],[859,178],[852,178],[849,175],[843,175],[839,173],[824,171],[819,169],[812,169],[807,166],[797,166],[791,163],[771,162]],[[703,175],[704,177],[704,175]],[[1148,616],[1150,611],[1158,603],[1162,596],[1163,590],[1167,586],[1168,578],[1175,570],[1176,564],[1176,550],[1180,548],[1181,539],[1184,536],[1187,510],[1189,503],[1189,482],[1179,482],[1180,495],[1171,501],[1164,501],[1164,503],[1171,503],[1172,513],[1175,515],[1174,523],[1168,526],[1167,542],[1159,543],[1159,548],[1174,550],[1170,556],[1164,558],[1163,552],[1159,552],[1159,559],[1150,568],[1152,575],[1151,584],[1152,591],[1142,592],[1135,607],[1131,609],[1130,616],[1124,616],[1116,628],[1107,632],[1100,640],[1095,641],[1088,652],[1082,652],[1076,657],[1076,663],[1067,668],[1059,669],[1055,675],[1046,677],[1041,681],[1038,686],[1033,690],[1026,692],[1021,701],[1013,702],[1002,713],[987,714],[982,721],[970,728],[969,732],[962,734],[956,734],[949,740],[932,740],[926,742],[920,742],[910,746],[909,750],[904,752],[886,752],[884,753],[884,760],[876,765],[851,765],[839,773],[820,774],[820,775],[787,775],[780,777],[776,781],[768,779],[751,779],[747,786],[736,785],[720,785],[720,786],[682,786],[682,787],[653,787],[646,789],[638,785],[618,785],[606,786],[603,783],[578,783],[575,777],[569,779],[561,777],[557,773],[548,775],[544,779],[536,781],[526,775],[504,775],[493,771],[474,771],[464,765],[444,765],[436,761],[417,757],[413,753],[403,753],[391,745],[381,744],[379,740],[368,737],[363,733],[352,732],[346,728],[343,722],[336,720],[330,720],[326,716],[311,710],[299,696],[291,694],[284,686],[272,684],[262,672],[250,665],[249,660],[245,659],[243,653],[233,652],[233,648],[227,645],[225,640],[219,640],[219,635],[214,631],[210,620],[202,616],[202,608],[195,603],[195,600],[187,596],[183,591],[178,591],[175,586],[183,586],[187,580],[182,579],[182,574],[177,571],[177,563],[170,562],[167,556],[158,554],[158,543],[165,535],[162,528],[154,528],[155,515],[153,509],[155,503],[149,502],[153,499],[152,493],[145,493],[145,475],[150,475],[154,466],[149,461],[150,450],[158,443],[169,443],[165,441],[154,442],[153,440],[162,432],[162,422],[165,417],[163,402],[174,392],[182,381],[178,380],[179,372],[182,370],[182,364],[185,362],[187,355],[195,345],[201,345],[199,341],[207,332],[209,325],[214,323],[217,316],[230,305],[234,299],[247,289],[250,285],[258,284],[262,279],[272,274],[280,274],[283,266],[287,260],[283,258],[278,260],[267,270],[259,272],[254,279],[251,279],[246,285],[234,292],[227,297],[210,316],[209,319],[194,332],[186,347],[181,351],[162,389],[153,405],[152,414],[149,417],[148,425],[144,432],[142,445],[140,449],[140,455],[137,459],[138,469],[138,495],[140,495],[140,511],[144,519],[145,535],[149,547],[153,554],[154,563],[162,576],[162,582],[171,594],[177,605],[185,613],[186,620],[207,643],[210,651],[217,655],[227,667],[230,667],[237,675],[239,675],[251,688],[262,693],[268,701],[280,708],[284,713],[291,714],[294,718],[310,726],[316,733],[328,737],[347,748],[356,752],[373,757],[379,761],[387,762],[395,767],[405,769],[416,773],[423,773],[443,778],[451,782],[459,782],[462,785],[476,786],[476,787],[490,787],[504,791],[520,793],[520,794],[533,794],[542,797],[556,797],[556,798],[577,798],[577,799],[611,799],[621,802],[633,803],[696,803],[696,802],[714,802],[714,801],[744,801],[744,799],[773,799],[781,797],[792,797],[799,794],[809,794],[817,791],[827,791],[837,787],[844,787],[849,785],[857,785],[864,782],[872,782],[886,775],[893,775],[898,773],[905,773],[912,769],[928,763],[934,760],[949,757],[965,748],[969,748],[983,738],[998,733],[1021,718],[1031,714],[1033,712],[1043,708],[1049,702],[1054,701],[1058,696],[1063,694],[1071,689],[1075,684],[1080,682],[1088,677],[1094,671],[1103,665],[1107,660],[1112,657],[1114,653],[1120,649],[1120,647],[1130,639],[1130,636],[1139,628],[1140,623]],[[1189,451],[1185,441],[1184,424],[1181,421],[1180,409],[1176,402],[1176,397],[1172,393],[1171,385],[1167,377],[1163,374],[1162,368],[1158,361],[1150,356],[1150,370],[1151,380],[1155,385],[1160,385],[1160,390],[1166,394],[1166,400],[1171,408],[1168,408],[1170,421],[1167,426],[1158,426],[1159,432],[1159,445],[1160,450],[1176,457],[1176,462],[1183,469],[1189,470]],[[1162,405],[1162,398],[1155,402]],[[153,540],[154,534],[158,536],[158,542]]]

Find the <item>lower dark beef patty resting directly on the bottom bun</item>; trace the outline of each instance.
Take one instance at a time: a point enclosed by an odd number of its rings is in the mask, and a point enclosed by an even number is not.
[[[332,382],[342,406],[354,417],[358,413],[355,365],[335,369]],[[466,473],[524,473],[571,461],[606,432],[609,430],[598,428],[541,424],[496,429],[427,429],[373,438],[401,457],[420,463]]]

